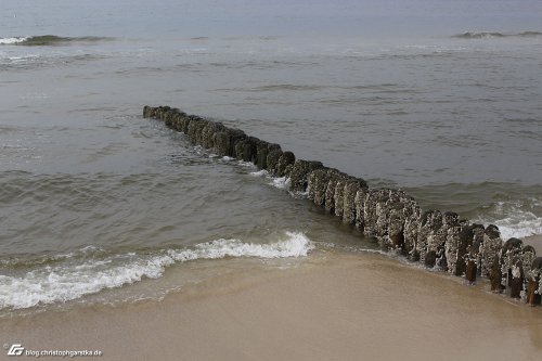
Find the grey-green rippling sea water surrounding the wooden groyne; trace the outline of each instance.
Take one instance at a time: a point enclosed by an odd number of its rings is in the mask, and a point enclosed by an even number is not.
[[[0,7],[1,315],[375,247],[145,104],[542,234],[540,1]]]

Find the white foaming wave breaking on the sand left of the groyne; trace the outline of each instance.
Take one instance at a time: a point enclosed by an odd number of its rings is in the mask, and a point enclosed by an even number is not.
[[[216,240],[192,248],[163,249],[151,255],[125,253],[107,255],[103,249],[85,247],[72,254],[0,263],[7,271],[0,275],[0,309],[24,309],[40,305],[66,302],[107,288],[121,287],[144,279],[160,278],[166,268],[178,262],[227,257],[287,258],[305,257],[314,248],[300,232],[285,232],[285,238],[271,244],[244,243],[241,240]],[[18,270],[17,270],[18,269]],[[24,273],[24,274],[20,274]]]

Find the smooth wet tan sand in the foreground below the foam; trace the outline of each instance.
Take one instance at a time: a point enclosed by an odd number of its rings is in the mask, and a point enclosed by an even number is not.
[[[382,255],[327,254],[162,301],[0,320],[0,339],[100,349],[102,360],[540,360],[542,308],[486,286]]]

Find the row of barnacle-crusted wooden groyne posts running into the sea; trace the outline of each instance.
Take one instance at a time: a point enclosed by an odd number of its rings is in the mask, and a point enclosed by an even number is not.
[[[297,159],[279,144],[175,107],[145,105],[143,117],[163,120],[185,133],[191,143],[220,156],[251,162],[273,177],[286,177],[291,191],[307,192],[315,205],[376,240],[384,249],[465,278],[470,284],[477,276],[488,278],[494,293],[531,306],[541,304],[542,257],[521,240],[503,242],[494,224],[472,223],[453,211],[422,210],[401,190],[370,189],[363,179],[318,160]]]

